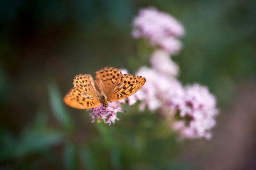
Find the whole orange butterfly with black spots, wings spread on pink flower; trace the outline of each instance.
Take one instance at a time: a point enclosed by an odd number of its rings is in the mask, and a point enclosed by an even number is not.
[[[116,101],[131,96],[146,82],[142,76],[122,74],[114,67],[104,67],[95,72],[96,80],[90,74],[79,74],[73,79],[74,87],[69,90],[63,101],[77,109],[89,109],[108,101]]]

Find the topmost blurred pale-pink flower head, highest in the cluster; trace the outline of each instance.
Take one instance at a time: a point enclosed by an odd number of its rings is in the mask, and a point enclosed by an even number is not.
[[[171,15],[157,11],[154,7],[141,9],[133,20],[134,38],[146,38],[152,46],[176,54],[182,44],[176,37],[184,35],[183,26]]]

